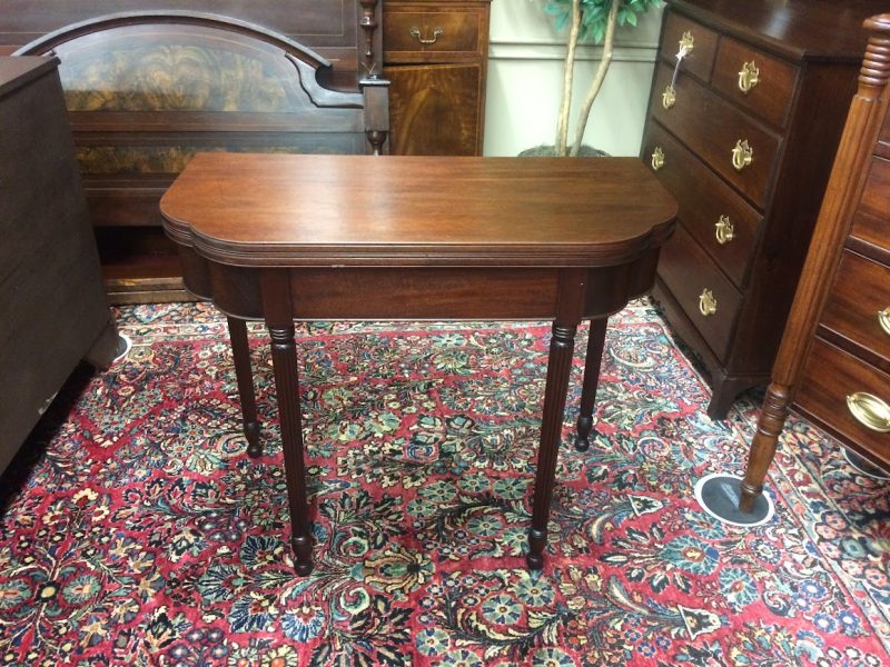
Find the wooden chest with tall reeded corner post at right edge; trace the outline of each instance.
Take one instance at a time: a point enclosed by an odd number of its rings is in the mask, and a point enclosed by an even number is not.
[[[890,469],[890,14],[870,19],[859,88],[741,486],[750,511],[790,406]]]

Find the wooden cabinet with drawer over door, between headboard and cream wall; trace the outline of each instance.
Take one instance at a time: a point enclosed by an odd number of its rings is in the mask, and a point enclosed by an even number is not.
[[[395,155],[482,155],[491,0],[385,0]]]

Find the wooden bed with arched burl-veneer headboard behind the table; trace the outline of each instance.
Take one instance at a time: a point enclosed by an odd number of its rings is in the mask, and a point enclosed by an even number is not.
[[[36,4],[63,3],[36,0],[28,3],[29,12],[4,16],[3,43],[11,40],[10,22],[18,21],[14,34],[20,37],[47,24],[46,16],[33,16],[39,13]],[[299,8],[305,8],[303,28]],[[166,298],[155,293],[150,282],[162,279],[167,285],[178,278],[174,248],[160,231],[158,201],[196,152],[384,150],[388,96],[387,82],[377,77],[377,0],[295,0],[291,9],[297,11],[247,4],[239,10],[275,19],[285,32],[241,17],[196,11],[93,16],[40,34],[14,51],[60,60],[112,301]],[[59,17],[72,18],[70,10],[61,9]],[[301,34],[312,48],[294,39]],[[146,280],[134,290],[131,283],[141,278]],[[142,295],[146,287],[148,293]],[[126,292],[132,291],[140,293],[128,298]],[[123,296],[116,298],[117,292]]]

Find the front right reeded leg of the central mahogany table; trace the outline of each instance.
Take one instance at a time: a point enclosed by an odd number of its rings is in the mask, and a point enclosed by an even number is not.
[[[528,530],[528,567],[544,567],[544,548],[547,546],[547,519],[553,498],[556,457],[560,452],[565,396],[572,369],[577,326],[553,325],[547,360],[547,384],[544,391],[544,414],[541,422],[541,444],[537,450],[535,495],[532,506],[532,527]]]

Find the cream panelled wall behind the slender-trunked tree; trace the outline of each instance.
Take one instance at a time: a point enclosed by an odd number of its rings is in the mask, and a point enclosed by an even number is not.
[[[543,4],[544,0],[492,2],[486,156],[514,156],[532,146],[554,143],[565,46]],[[613,156],[639,153],[660,27],[661,10],[650,10],[636,29],[623,29],[616,36],[612,66],[593,106],[585,143]],[[580,49],[575,109],[601,52],[594,47]]]

